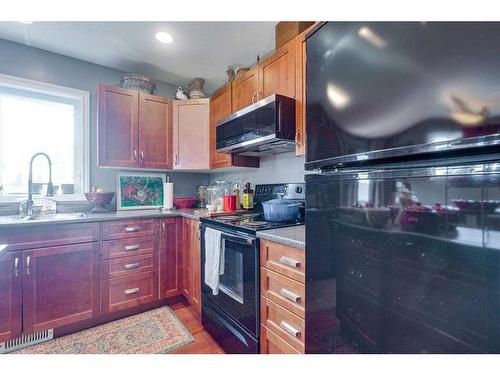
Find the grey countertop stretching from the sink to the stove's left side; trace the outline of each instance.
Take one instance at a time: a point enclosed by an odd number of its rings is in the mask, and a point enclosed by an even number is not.
[[[219,213],[220,214],[220,213]],[[199,220],[200,217],[208,217],[213,215],[208,210],[204,209],[179,209],[179,210],[130,210],[130,211],[113,211],[106,213],[87,212],[78,215],[71,213],[62,213],[56,215],[48,215],[43,219],[37,220],[2,220],[0,216],[0,229],[12,228],[19,226],[31,226],[41,224],[62,224],[62,223],[88,223],[110,220],[127,220],[127,219],[144,219],[144,218],[164,218],[164,217],[187,217],[189,219]],[[4,219],[7,217],[3,217]]]

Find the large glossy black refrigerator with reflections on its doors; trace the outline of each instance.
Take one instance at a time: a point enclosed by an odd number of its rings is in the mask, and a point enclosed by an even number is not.
[[[500,23],[306,43],[306,347],[500,353]]]

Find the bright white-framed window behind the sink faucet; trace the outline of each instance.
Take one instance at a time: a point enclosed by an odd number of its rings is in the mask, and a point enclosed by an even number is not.
[[[31,157],[52,160],[56,194],[83,194],[89,188],[89,93],[0,75],[0,185],[7,196],[28,191]],[[35,194],[45,194],[47,160],[33,163]]]

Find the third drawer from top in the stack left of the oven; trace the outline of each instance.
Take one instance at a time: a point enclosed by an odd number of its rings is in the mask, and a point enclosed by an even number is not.
[[[140,272],[156,271],[158,268],[158,254],[148,253],[131,257],[116,258],[102,261],[101,278],[109,279],[133,275]]]

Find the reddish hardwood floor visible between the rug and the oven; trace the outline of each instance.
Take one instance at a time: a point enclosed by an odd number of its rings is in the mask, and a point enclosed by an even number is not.
[[[189,303],[177,302],[169,307],[195,339],[191,344],[183,346],[171,354],[224,354],[224,350],[203,329],[200,316]]]

